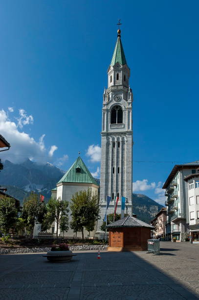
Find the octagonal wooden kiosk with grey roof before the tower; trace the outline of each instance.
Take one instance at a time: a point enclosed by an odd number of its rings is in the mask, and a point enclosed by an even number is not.
[[[109,229],[108,251],[147,250],[147,240],[151,238],[153,226],[127,216],[107,225]]]

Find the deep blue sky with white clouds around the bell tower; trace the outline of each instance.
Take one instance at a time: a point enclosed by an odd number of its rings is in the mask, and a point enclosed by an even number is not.
[[[198,11],[198,1],[184,0],[2,1],[0,133],[12,148],[1,157],[66,170],[80,150],[97,172],[102,95],[121,19],[135,192],[163,203],[159,188],[175,162],[199,159]]]

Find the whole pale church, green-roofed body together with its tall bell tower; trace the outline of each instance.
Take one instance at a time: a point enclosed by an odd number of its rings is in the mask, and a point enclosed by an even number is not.
[[[132,182],[133,182],[133,128],[132,102],[133,93],[129,85],[130,69],[127,65],[121,42],[121,31],[117,31],[117,41],[111,64],[108,69],[108,88],[104,90],[101,131],[101,180],[100,180],[100,220],[90,236],[101,237],[101,230],[107,197],[111,197],[108,214],[114,212],[114,203],[118,199],[116,213],[121,213],[121,198],[128,203],[128,215],[132,215]],[[96,181],[79,156],[66,174],[52,190],[52,197],[67,200],[81,190],[91,188],[98,193],[99,180]],[[70,212],[68,214],[70,220]],[[54,230],[56,231],[56,225]],[[60,233],[60,232],[59,232]],[[63,235],[60,233],[60,235]],[[65,234],[74,236],[71,229]],[[88,232],[84,233],[85,237]],[[78,236],[81,233],[78,232]]]

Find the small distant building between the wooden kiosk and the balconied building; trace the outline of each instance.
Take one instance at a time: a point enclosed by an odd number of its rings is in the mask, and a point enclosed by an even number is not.
[[[156,215],[151,225],[154,226],[154,239],[165,238],[166,230],[165,224],[167,221],[167,209],[162,208]]]

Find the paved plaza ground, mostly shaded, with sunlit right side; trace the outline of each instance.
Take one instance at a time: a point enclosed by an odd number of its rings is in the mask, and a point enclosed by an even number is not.
[[[1,300],[199,299],[199,244],[161,242],[161,255],[78,251],[71,262],[0,255]]]

